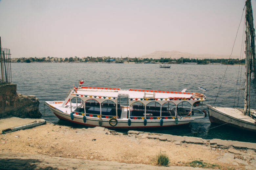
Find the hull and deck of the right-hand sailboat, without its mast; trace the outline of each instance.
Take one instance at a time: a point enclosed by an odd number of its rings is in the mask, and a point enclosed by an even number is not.
[[[209,119],[211,123],[226,123],[228,126],[256,132],[255,120],[248,115],[243,115],[242,111],[239,113],[239,111],[240,110],[236,108],[220,108],[208,106]]]

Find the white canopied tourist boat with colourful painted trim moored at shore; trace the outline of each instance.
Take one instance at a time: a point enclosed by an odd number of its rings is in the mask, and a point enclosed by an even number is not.
[[[201,93],[159,90],[74,87],[64,101],[45,101],[63,120],[88,127],[152,128],[188,124],[204,118],[197,107],[205,101]]]

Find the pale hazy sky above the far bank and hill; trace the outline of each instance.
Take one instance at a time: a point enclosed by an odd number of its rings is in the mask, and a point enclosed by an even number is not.
[[[0,36],[12,58],[140,57],[162,50],[229,55],[244,5],[244,0],[0,0]],[[252,9],[256,19],[255,0]]]

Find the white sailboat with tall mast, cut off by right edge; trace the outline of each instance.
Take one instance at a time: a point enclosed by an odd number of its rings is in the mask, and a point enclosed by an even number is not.
[[[209,119],[212,123],[226,124],[228,126],[256,132],[256,110],[250,109],[250,84],[251,77],[254,73],[256,78],[256,60],[255,60],[255,29],[253,28],[251,1],[245,2],[246,6],[246,40],[245,40],[245,103],[244,109],[225,108],[225,107],[208,107]],[[255,80],[256,82],[256,80]],[[254,87],[255,88],[255,87]],[[255,95],[255,94],[254,94]],[[217,94],[218,96],[218,94]],[[255,107],[255,103],[253,104]]]

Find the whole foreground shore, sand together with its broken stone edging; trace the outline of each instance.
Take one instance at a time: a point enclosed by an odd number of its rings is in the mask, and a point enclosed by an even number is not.
[[[155,166],[160,151],[169,156],[169,167]],[[145,166],[143,169],[171,169],[173,166],[184,169],[184,166],[192,166],[254,170],[255,151],[255,143],[139,131],[123,134],[103,127],[75,129],[49,123],[0,135],[0,166],[5,165],[6,169],[14,168],[10,162],[24,159],[23,167],[37,169],[44,165],[53,169],[138,169],[142,166]],[[28,158],[28,155],[31,156]],[[47,161],[51,157],[56,163]],[[67,159],[75,159],[77,164],[74,163],[74,167],[64,165],[63,162],[73,162]]]

